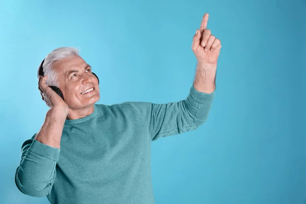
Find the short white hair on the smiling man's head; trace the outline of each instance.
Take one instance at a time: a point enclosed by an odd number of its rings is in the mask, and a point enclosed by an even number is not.
[[[53,65],[61,59],[66,57],[70,57],[73,55],[79,56],[79,49],[75,47],[59,47],[54,49],[51,53],[49,53],[44,60],[42,65],[44,75],[48,75],[48,79],[46,80],[47,86],[58,86],[57,78],[58,73],[53,69]]]

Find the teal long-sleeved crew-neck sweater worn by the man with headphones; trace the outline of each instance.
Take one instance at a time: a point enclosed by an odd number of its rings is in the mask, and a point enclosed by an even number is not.
[[[61,148],[34,140],[21,147],[15,174],[24,194],[60,204],[151,204],[151,141],[197,129],[215,92],[192,85],[185,100],[167,104],[95,104],[92,114],[66,120]]]

